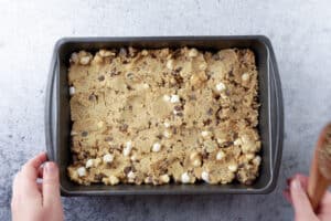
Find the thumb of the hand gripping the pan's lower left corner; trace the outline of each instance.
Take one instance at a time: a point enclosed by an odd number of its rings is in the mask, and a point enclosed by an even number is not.
[[[61,207],[58,168],[46,162],[43,171],[43,206]]]

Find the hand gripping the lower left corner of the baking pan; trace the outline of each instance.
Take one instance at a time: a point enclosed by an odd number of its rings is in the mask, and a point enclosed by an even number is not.
[[[58,169],[54,162],[45,162],[42,152],[30,159],[13,181],[11,212],[13,221],[62,221],[64,220]],[[44,167],[42,164],[45,162]],[[36,179],[42,178],[42,183]]]

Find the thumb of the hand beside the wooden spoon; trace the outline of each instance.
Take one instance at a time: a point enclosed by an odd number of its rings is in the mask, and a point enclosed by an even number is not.
[[[314,220],[316,215],[312,211],[310,201],[301,186],[301,182],[298,179],[293,179],[290,182],[290,193],[295,208],[296,220]]]

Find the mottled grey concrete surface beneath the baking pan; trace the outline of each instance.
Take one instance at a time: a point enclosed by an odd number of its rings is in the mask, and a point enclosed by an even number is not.
[[[12,177],[44,150],[45,82],[61,36],[265,34],[281,74],[286,136],[268,196],[63,198],[66,220],[291,220],[286,177],[308,172],[331,119],[328,0],[0,1],[0,219],[10,219]]]

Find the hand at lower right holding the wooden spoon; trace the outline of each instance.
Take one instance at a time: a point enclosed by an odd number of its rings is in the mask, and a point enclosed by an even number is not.
[[[297,221],[324,221],[331,220],[331,192],[327,191],[322,198],[318,211],[314,212],[310,204],[307,187],[308,177],[295,175],[287,180],[288,188],[284,190],[285,198],[295,209]]]

